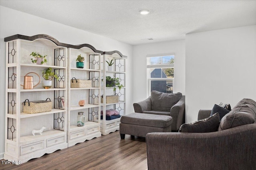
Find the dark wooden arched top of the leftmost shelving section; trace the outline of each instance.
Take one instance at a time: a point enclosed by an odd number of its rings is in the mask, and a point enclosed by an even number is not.
[[[24,39],[24,40],[28,40],[28,41],[34,41],[36,39],[48,39],[48,40],[54,42],[58,46],[62,46],[62,47],[68,47],[69,46],[69,44],[60,43],[54,37],[51,37],[50,35],[46,35],[46,34],[38,34],[38,35],[31,36],[31,37],[26,36],[26,35],[16,34],[16,35],[12,35],[10,37],[4,38],[4,41],[7,42],[7,41],[15,40],[15,39]]]

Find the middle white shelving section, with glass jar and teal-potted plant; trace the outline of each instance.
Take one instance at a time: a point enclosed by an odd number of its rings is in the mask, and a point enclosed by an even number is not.
[[[87,44],[80,47],[68,48],[68,147],[86,140],[100,137],[100,56],[102,51],[97,51]],[[76,58],[81,55],[85,58],[84,68],[76,68]],[[92,87],[71,88],[70,80],[75,77],[81,80],[91,80]],[[78,102],[85,100],[84,106]],[[85,124],[77,126],[78,112],[84,112]]]

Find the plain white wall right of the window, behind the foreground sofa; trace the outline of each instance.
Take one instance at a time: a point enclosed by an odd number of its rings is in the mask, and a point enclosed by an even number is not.
[[[186,35],[186,121],[200,109],[256,101],[256,25]]]

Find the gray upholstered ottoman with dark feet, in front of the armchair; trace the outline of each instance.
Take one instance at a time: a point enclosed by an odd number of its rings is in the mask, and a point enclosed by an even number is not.
[[[146,113],[131,113],[121,117],[120,136],[125,134],[146,137],[150,132],[171,132],[172,117],[167,115],[154,115]]]

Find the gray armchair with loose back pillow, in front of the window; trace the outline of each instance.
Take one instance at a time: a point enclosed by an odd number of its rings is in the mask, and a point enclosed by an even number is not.
[[[168,115],[172,117],[172,131],[185,123],[185,96],[152,91],[146,100],[133,104],[136,113]]]

